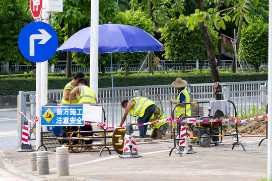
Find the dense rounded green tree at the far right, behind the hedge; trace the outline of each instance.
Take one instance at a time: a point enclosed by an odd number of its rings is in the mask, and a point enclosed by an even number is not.
[[[247,62],[258,72],[260,64],[268,60],[268,23],[261,18],[251,20],[248,25],[243,23],[240,47]],[[244,60],[243,53],[241,50],[238,53],[241,61]]]

